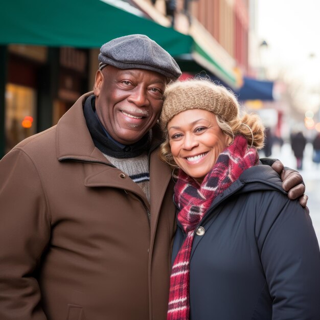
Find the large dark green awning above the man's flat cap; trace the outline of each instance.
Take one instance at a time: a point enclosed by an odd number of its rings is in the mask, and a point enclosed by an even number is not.
[[[149,36],[172,56],[192,48],[190,36],[101,0],[10,0],[0,10],[0,44],[100,48],[134,33]]]

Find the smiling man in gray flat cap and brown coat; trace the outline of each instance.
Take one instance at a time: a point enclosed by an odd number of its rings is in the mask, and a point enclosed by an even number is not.
[[[1,319],[166,318],[175,208],[156,122],[181,72],[144,35],[99,61],[94,92],[0,162]]]

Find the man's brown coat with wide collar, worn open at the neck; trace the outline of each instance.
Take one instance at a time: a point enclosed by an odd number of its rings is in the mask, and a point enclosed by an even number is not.
[[[94,146],[82,110],[90,94],[2,159],[0,319],[166,318],[171,171],[156,148],[150,205]]]

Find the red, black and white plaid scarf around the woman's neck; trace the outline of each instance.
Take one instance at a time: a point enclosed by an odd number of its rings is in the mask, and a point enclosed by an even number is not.
[[[234,143],[220,153],[216,164],[204,177],[201,185],[179,169],[174,197],[180,209],[177,219],[187,238],[171,270],[168,320],[187,320],[190,317],[190,255],[198,223],[215,197],[230,187],[244,170],[258,164],[258,159],[256,149],[247,149],[246,139],[236,136]]]

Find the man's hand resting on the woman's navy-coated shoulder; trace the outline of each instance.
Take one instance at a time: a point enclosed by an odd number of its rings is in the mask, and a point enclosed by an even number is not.
[[[279,160],[275,161],[271,168],[280,175],[282,188],[288,192],[288,198],[291,200],[299,198],[302,207],[306,208],[308,196],[304,194],[306,187],[302,175],[296,170],[284,169],[282,162]],[[308,210],[308,208],[306,209]]]

